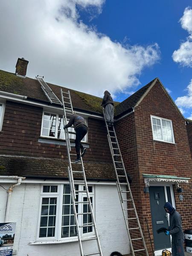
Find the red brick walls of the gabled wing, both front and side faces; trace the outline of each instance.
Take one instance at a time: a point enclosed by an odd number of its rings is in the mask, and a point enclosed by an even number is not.
[[[153,140],[150,115],[172,120],[175,144]],[[150,252],[151,245],[145,221],[147,218],[153,241],[150,200],[149,194],[143,193],[145,183],[142,174],[192,176],[192,158],[185,120],[157,82],[140,105],[135,108],[134,113],[117,122],[116,131],[125,168],[133,175],[131,191]],[[183,217],[183,230],[189,228],[192,223],[191,185],[191,181],[189,184],[182,185],[183,202],[179,201],[179,194],[174,187],[176,208]]]

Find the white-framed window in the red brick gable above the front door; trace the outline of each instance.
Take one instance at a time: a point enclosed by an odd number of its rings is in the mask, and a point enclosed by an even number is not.
[[[172,120],[151,116],[153,139],[175,143]]]

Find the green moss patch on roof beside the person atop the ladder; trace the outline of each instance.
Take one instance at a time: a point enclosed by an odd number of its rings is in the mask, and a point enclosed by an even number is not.
[[[82,93],[79,91],[73,90],[74,93],[76,93],[84,102],[87,103],[91,108],[93,108],[93,111],[102,113],[102,98],[93,96],[87,93]],[[118,105],[119,102],[114,102],[114,106]]]

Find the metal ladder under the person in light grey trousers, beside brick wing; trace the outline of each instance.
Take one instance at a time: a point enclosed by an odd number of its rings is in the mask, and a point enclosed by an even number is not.
[[[136,256],[136,255],[143,255],[140,253],[143,253],[145,251],[145,255],[148,256],[147,247],[145,244],[140,221],[137,215],[137,210],[134,204],[134,199],[131,193],[131,189],[128,181],[128,175],[126,173],[125,166],[122,160],[122,154],[119,148],[119,143],[117,141],[115,129],[114,129],[114,126],[110,126],[107,124],[104,109],[103,109],[103,115],[104,115],[105,125],[108,132],[108,135],[107,135],[108,143],[111,151],[111,156],[113,159],[113,166],[115,169],[116,180],[117,180],[116,185],[117,185],[122,212],[123,212],[123,216],[126,224],[129,241],[130,241],[131,252],[133,256]],[[126,180],[126,182],[125,181],[122,182],[122,179]],[[126,186],[126,189],[122,189],[121,186]],[[126,193],[127,199],[123,198],[124,193]],[[123,205],[124,202],[126,202],[127,204],[126,207],[125,205]],[[128,217],[126,217],[126,212]],[[134,237],[136,236],[137,238],[133,238],[133,236]]]

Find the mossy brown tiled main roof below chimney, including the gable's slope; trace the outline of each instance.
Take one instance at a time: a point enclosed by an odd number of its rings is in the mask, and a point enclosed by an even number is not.
[[[123,102],[115,102],[115,116],[122,115],[123,113],[129,111],[132,107],[134,107],[143,96],[143,94],[146,92],[146,90],[151,86],[153,81],[154,80],[152,80],[150,83],[142,87],[136,93],[128,97],[128,99],[125,99]],[[49,84],[48,82],[47,84],[53,90],[55,95],[61,100],[61,86]],[[66,87],[62,87],[62,89],[64,91],[70,90],[73,108],[102,114],[102,106],[100,105],[102,102],[102,98],[87,93],[82,93],[76,90],[68,89]],[[49,104],[49,100],[45,96],[43,90],[41,90],[41,85],[36,79],[31,79],[28,77],[23,79],[16,76],[14,73],[0,70],[0,90],[8,93],[20,94],[23,96],[27,96],[28,99],[36,99],[47,102]]]

